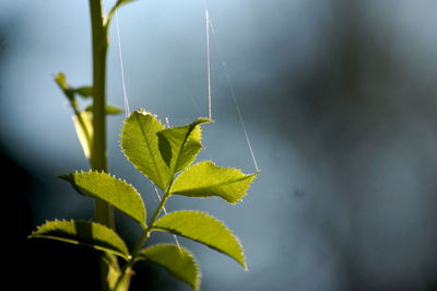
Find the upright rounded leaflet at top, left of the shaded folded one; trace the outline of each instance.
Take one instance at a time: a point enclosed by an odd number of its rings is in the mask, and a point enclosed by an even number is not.
[[[157,132],[165,127],[145,110],[133,112],[121,130],[126,158],[164,191],[173,176],[160,153]]]

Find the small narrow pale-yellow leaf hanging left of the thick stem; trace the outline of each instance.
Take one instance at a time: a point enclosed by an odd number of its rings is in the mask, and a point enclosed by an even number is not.
[[[78,115],[73,115],[73,123],[75,128],[75,133],[78,135],[79,141],[81,142],[83,153],[86,159],[91,159],[91,153],[93,149],[93,115],[87,112],[81,112]]]

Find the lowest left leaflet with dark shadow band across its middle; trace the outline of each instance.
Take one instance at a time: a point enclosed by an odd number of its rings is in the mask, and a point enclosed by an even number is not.
[[[83,220],[55,220],[38,226],[29,236],[51,238],[72,244],[85,245],[96,249],[129,258],[125,242],[113,230],[103,224]]]

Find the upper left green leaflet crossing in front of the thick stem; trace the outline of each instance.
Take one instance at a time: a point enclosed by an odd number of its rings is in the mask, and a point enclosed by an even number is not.
[[[125,181],[93,171],[61,175],[60,178],[68,181],[80,194],[108,202],[146,228],[144,202],[137,189]]]

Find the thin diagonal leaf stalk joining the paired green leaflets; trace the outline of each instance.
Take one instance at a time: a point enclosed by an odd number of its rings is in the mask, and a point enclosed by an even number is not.
[[[126,265],[123,266],[122,270],[121,270],[121,275],[117,280],[117,283],[114,288],[115,291],[118,290],[118,288],[120,287],[121,282],[127,278],[127,276],[130,276],[131,271],[132,271],[132,267],[137,261],[137,257],[141,251],[141,247],[143,247],[143,245],[147,242],[149,237],[150,237],[150,233],[153,229],[153,223],[155,223],[156,219],[160,217],[161,211],[163,211],[163,208],[165,206],[165,202],[168,199],[168,194],[164,194],[163,199],[161,200],[158,207],[156,208],[155,212],[153,213],[152,219],[149,221],[149,226],[144,230],[144,232],[142,233],[140,240],[138,241],[135,247],[132,251],[132,256],[130,257],[130,259],[126,263]]]

